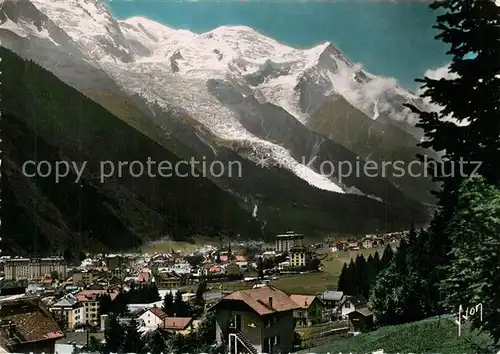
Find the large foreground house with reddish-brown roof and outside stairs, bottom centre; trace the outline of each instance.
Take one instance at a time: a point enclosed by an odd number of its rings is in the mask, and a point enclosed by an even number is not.
[[[293,312],[300,307],[285,292],[264,286],[235,291],[212,309],[216,341],[229,353],[288,353],[293,350]]]

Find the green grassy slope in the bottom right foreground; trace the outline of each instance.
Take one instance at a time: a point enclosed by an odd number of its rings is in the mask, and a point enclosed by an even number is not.
[[[488,337],[465,329],[458,337],[458,328],[449,318],[429,318],[398,326],[382,327],[377,331],[333,341],[301,353],[477,353],[471,344],[489,348]],[[493,352],[492,352],[493,353]]]

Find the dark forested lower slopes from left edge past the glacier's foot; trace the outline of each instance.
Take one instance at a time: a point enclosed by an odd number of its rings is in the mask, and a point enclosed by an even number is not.
[[[145,163],[150,157],[175,163],[179,157],[36,64],[4,48],[0,56],[5,251],[123,249],[165,235],[184,239],[219,232],[269,238],[288,227],[308,235],[362,233],[401,228],[409,221],[407,209],[357,195],[331,198],[286,169],[256,167],[234,152],[248,149],[244,145],[218,147],[217,157],[240,161],[253,184],[232,178],[221,189],[205,178],[127,173],[101,183],[99,161]],[[52,166],[61,160],[89,162],[77,184],[74,171],[59,183],[53,175],[27,178],[21,167],[28,160]],[[258,220],[251,215],[254,206]]]

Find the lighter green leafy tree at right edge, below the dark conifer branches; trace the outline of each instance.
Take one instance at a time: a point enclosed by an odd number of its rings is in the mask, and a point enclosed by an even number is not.
[[[453,313],[481,303],[484,314],[471,320],[500,340],[500,189],[483,178],[462,186],[448,233],[451,261],[443,267],[444,307]]]

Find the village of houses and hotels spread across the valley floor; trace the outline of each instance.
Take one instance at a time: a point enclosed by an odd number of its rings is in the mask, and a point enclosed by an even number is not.
[[[379,270],[405,235],[307,244],[288,231],[273,244],[220,239],[176,249],[181,243],[169,242],[87,254],[77,265],[4,256],[0,352],[88,352],[110,340],[110,326],[144,342],[159,332],[189,337],[207,313],[215,336],[205,344],[229,353],[289,353],[357,335],[376,321],[367,307],[371,280],[361,284],[360,267]]]

